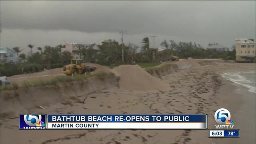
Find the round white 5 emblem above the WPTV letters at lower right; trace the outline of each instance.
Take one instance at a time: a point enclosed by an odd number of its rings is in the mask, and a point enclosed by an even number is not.
[[[230,120],[231,115],[230,112],[225,108],[218,109],[214,114],[215,121],[219,124],[225,124],[228,120]]]

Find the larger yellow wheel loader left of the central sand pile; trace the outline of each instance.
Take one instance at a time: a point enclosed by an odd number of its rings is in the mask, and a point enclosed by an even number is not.
[[[84,74],[85,72],[93,72],[96,70],[96,67],[93,66],[84,66],[81,65],[82,60],[81,59],[72,59],[71,64],[68,64],[63,67],[63,73],[66,75],[78,75],[78,74]]]

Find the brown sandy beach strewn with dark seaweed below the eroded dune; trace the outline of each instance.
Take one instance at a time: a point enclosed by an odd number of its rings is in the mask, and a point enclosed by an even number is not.
[[[240,138],[208,138],[208,130],[19,130],[18,115],[0,121],[1,144],[254,144],[255,93],[236,92],[240,85],[224,79],[224,72],[255,70],[255,64],[199,62],[184,70],[146,81],[158,86],[142,90],[125,86],[108,88],[33,108],[40,114],[208,114],[208,129],[215,129],[214,113],[226,108],[240,129]],[[116,68],[118,70],[118,68]],[[120,68],[119,68],[120,69]],[[145,71],[146,72],[146,71]],[[128,75],[129,76],[129,75]],[[132,79],[133,77],[129,77]],[[120,81],[122,82],[122,77]],[[137,84],[141,85],[140,83]],[[136,85],[135,85],[136,86]],[[156,87],[156,90],[150,90]],[[161,89],[163,88],[163,89]],[[248,112],[249,111],[249,112]],[[248,122],[247,122],[248,121]],[[249,123],[251,121],[251,123]]]

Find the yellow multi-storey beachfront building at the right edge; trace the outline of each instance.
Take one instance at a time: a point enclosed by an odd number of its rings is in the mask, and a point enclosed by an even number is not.
[[[256,54],[256,43],[253,39],[236,38],[236,61],[253,62]]]

